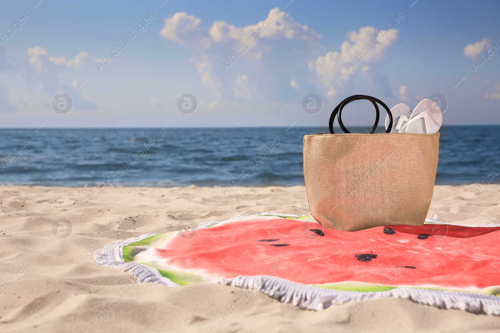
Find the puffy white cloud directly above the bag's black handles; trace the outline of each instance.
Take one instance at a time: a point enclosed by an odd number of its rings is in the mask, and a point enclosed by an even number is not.
[[[317,81],[328,89],[329,97],[345,90],[358,70],[366,72],[369,70],[367,65],[384,61],[387,50],[398,39],[398,31],[366,26],[351,31],[348,39],[342,43],[340,51],[329,51],[308,63]]]

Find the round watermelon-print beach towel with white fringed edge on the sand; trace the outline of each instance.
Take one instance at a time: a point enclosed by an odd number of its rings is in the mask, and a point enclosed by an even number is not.
[[[500,225],[323,228],[310,216],[262,213],[142,235],[95,252],[99,265],[166,286],[221,283],[309,310],[399,297],[500,315]]]

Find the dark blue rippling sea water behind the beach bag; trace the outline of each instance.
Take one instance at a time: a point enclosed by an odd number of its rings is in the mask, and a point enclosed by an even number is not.
[[[327,131],[1,129],[0,184],[173,187],[227,186],[237,180],[239,186],[303,185],[302,138]],[[440,133],[436,184],[499,182],[500,126],[450,126]]]

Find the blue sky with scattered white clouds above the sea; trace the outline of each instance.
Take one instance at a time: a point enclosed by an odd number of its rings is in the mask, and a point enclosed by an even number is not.
[[[1,127],[326,126],[357,93],[410,108],[440,94],[444,124],[500,123],[498,1],[38,1],[0,2]],[[371,125],[365,102],[345,123]]]

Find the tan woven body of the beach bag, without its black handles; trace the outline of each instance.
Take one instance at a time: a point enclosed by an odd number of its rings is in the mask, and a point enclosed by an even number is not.
[[[342,231],[423,225],[438,152],[439,133],[305,135],[304,180],[312,217]]]

